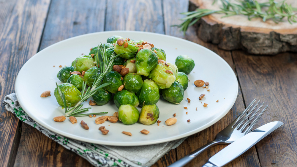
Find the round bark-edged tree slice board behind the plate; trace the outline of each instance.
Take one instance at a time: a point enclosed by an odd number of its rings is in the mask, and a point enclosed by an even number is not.
[[[258,0],[267,2],[268,0]],[[275,0],[280,1],[280,0]],[[212,0],[189,0],[189,11],[196,8],[219,10],[221,1],[212,5]],[[235,3],[235,0],[232,0]],[[297,7],[296,0],[286,0]],[[197,23],[197,35],[205,42],[217,44],[225,50],[244,49],[252,54],[274,55],[281,52],[297,52],[297,23],[290,24],[272,20],[263,22],[261,18],[248,20],[247,16],[236,15],[222,18],[224,14],[212,14]]]

